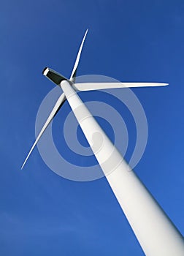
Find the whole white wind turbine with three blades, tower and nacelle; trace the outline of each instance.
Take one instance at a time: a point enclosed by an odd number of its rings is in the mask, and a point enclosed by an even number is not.
[[[134,230],[135,236],[142,246],[145,255],[149,256],[182,256],[184,255],[183,236],[177,230],[175,225],[166,216],[162,208],[156,200],[150,195],[145,186],[136,176],[131,167],[126,163],[120,152],[112,144],[110,139],[101,129],[99,124],[93,118],[88,108],[77,95],[76,91],[91,91],[98,89],[115,89],[126,87],[145,87],[145,86],[166,86],[167,83],[75,83],[77,67],[80,61],[80,54],[83,49],[83,44],[88,30],[85,31],[83,41],[77,53],[77,59],[72,69],[72,74],[69,79],[64,78],[53,69],[45,68],[43,75],[60,86],[63,93],[58,98],[57,102],[50,115],[42,127],[34,145],[28,153],[23,166],[26,164],[28,157],[37,145],[39,138],[53,120],[61,105],[67,99],[70,107],[74,112],[74,116],[80,124],[81,129],[88,140],[89,145],[95,155],[107,181],[115,194],[115,197],[123,209],[126,218]],[[80,111],[79,111],[80,108]],[[103,138],[103,145],[96,146],[93,143],[93,135],[99,135]],[[97,143],[98,144],[98,143]],[[129,170],[129,171],[128,171]],[[131,170],[131,171],[130,171]]]

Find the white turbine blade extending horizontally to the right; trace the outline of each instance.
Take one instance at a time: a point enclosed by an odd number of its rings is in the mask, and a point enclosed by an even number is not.
[[[168,86],[168,83],[74,83],[73,86],[78,91],[93,91],[127,87]]]

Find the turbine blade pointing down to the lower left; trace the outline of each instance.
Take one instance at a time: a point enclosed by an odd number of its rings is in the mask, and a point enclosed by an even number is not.
[[[27,155],[25,161],[23,162],[23,165],[21,166],[21,170],[23,169],[24,165],[26,164],[28,157],[30,156],[31,152],[34,150],[34,147],[37,145],[37,142],[41,138],[42,134],[45,132],[45,129],[50,124],[50,121],[53,120],[53,117],[58,112],[58,109],[61,108],[61,105],[64,103],[65,99],[66,99],[66,97],[65,97],[64,93],[61,94],[61,96],[58,98],[57,102],[55,103],[55,106],[53,107],[53,110],[50,112],[50,115],[47,118],[47,121],[45,122],[44,126],[42,127],[41,131],[39,132],[39,135],[37,136],[37,139],[34,141],[34,144],[31,147],[30,151],[28,152],[28,155]]]

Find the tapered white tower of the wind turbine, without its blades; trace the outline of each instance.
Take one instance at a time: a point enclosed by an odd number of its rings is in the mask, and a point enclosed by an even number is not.
[[[183,256],[183,237],[65,80],[61,88],[145,255]]]

